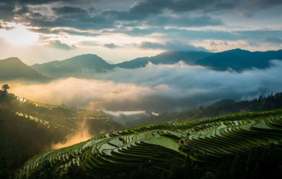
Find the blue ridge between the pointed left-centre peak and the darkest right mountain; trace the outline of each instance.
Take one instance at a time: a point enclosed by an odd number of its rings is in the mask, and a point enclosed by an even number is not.
[[[210,52],[198,51],[166,51],[152,57],[140,57],[131,61],[116,64],[119,68],[139,68],[145,67],[148,61],[153,64],[176,64],[179,61],[184,61],[186,64],[193,64],[198,59],[212,55]]]

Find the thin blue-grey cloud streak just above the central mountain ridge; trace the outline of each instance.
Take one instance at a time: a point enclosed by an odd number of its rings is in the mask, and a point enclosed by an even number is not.
[[[183,43],[171,43],[165,42],[162,43],[153,43],[153,42],[142,42],[141,44],[131,44],[130,46],[142,48],[142,49],[163,49],[163,50],[184,50],[184,51],[208,51],[204,47],[195,47],[190,44]]]

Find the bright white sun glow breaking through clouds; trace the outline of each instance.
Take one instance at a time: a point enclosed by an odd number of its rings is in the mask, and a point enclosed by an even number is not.
[[[13,30],[1,30],[0,36],[5,38],[8,43],[16,45],[32,44],[37,41],[39,35],[30,32],[24,26],[19,26]]]

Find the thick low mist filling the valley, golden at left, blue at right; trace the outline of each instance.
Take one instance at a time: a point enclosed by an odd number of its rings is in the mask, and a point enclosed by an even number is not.
[[[214,71],[184,62],[145,68],[115,68],[107,73],[88,73],[93,79],[57,79],[49,84],[15,85],[10,92],[40,103],[107,111],[161,113],[186,109],[217,100],[251,100],[282,91],[282,62],[268,69],[237,73]],[[95,77],[95,79],[94,79]]]

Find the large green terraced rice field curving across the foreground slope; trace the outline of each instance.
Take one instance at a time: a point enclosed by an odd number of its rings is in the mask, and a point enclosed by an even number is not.
[[[188,134],[189,133],[189,134]],[[45,160],[66,170],[72,163],[89,173],[111,167],[138,165],[150,160],[155,168],[177,156],[190,155],[201,161],[204,155],[221,156],[247,151],[257,146],[282,148],[282,110],[241,112],[203,120],[148,124],[102,133],[88,141],[34,156],[18,175],[29,172]],[[192,152],[191,152],[192,151]]]

